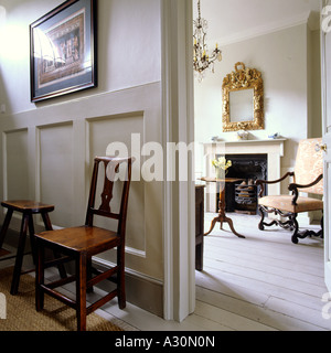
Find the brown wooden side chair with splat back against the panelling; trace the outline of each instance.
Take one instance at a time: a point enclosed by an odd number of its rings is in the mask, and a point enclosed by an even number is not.
[[[119,171],[119,165],[126,163],[126,179],[122,183],[121,201],[119,213],[114,213],[110,208],[115,176]],[[87,205],[85,225],[63,228],[52,232],[43,232],[35,235],[38,249],[36,260],[36,284],[35,284],[35,306],[36,310],[43,309],[44,293],[47,293],[76,310],[77,330],[86,330],[86,315],[95,311],[107,301],[118,297],[120,309],[126,307],[125,293],[125,235],[126,218],[129,197],[129,184],[131,179],[130,158],[119,159],[110,157],[96,157],[90,182],[89,200]],[[104,165],[104,186],[100,194],[100,205],[95,207],[97,191],[98,171]],[[117,232],[94,226],[94,216],[109,217],[118,221]],[[75,261],[75,275],[65,279],[56,280],[52,284],[44,282],[44,249],[51,248],[64,255],[60,260]],[[92,256],[104,253],[108,249],[117,248],[117,264],[113,268],[102,272],[92,267]],[[55,265],[55,263],[54,263]],[[96,275],[96,276],[93,276]],[[86,308],[86,292],[104,279],[110,279],[117,284],[116,289],[107,293],[104,298]],[[76,281],[76,300],[72,300],[55,288]]]

